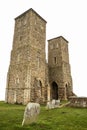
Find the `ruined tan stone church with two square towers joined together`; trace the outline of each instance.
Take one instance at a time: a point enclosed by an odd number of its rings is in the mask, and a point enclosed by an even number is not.
[[[7,103],[46,103],[73,95],[68,41],[63,36],[49,39],[46,62],[46,23],[33,9],[15,18]]]

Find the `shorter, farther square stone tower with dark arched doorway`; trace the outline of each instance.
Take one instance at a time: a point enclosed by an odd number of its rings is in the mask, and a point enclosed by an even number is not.
[[[48,66],[51,99],[68,99],[72,95],[72,78],[68,41],[64,37],[48,40]]]

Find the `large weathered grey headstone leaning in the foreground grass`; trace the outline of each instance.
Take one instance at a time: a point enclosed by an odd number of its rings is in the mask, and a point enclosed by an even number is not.
[[[40,113],[39,103],[28,103],[25,108],[22,126],[36,122],[39,113]]]

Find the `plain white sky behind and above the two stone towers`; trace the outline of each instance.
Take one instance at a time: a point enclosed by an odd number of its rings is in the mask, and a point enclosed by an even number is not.
[[[0,0],[0,100],[5,99],[14,18],[33,8],[47,21],[48,39],[69,41],[73,90],[87,96],[87,0]]]

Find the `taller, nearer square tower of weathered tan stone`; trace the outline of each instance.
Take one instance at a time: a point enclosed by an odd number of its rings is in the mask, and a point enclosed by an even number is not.
[[[44,102],[46,21],[33,9],[15,19],[6,102]]]

